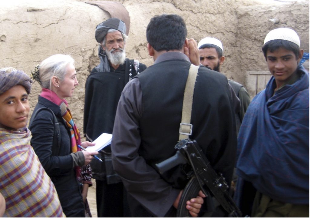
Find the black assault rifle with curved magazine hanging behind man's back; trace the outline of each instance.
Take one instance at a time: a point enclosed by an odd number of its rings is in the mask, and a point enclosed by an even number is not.
[[[177,145],[175,155],[156,164],[157,170],[163,173],[179,164],[188,163],[194,172],[193,177],[189,180],[184,188],[180,198],[177,217],[189,217],[189,211],[186,209],[186,201],[196,198],[199,190],[207,196],[203,185],[215,196],[225,211],[231,217],[241,216],[241,211],[228,194],[228,185],[222,174],[217,174],[211,167],[210,162],[202,153],[201,148],[195,140],[183,139]]]

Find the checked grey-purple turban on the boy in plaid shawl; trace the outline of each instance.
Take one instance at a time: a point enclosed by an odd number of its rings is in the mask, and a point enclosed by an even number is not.
[[[30,93],[32,80],[22,70],[14,68],[0,69],[0,95],[13,86],[22,85],[25,87],[27,94]]]

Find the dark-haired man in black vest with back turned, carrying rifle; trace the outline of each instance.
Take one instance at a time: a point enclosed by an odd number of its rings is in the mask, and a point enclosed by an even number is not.
[[[133,78],[122,91],[113,128],[112,162],[128,192],[134,217],[176,216],[179,197],[188,179],[182,168],[160,175],[154,165],[175,153],[185,83],[190,60],[184,54],[196,42],[187,40],[178,15],[155,16],[146,30],[154,65]],[[197,51],[197,65],[198,51]],[[191,124],[196,140],[211,166],[230,184],[236,157],[236,126],[227,78],[200,67],[194,89]],[[217,87],[223,87],[218,89]],[[200,196],[204,197],[200,194]],[[187,202],[197,216],[201,197]]]

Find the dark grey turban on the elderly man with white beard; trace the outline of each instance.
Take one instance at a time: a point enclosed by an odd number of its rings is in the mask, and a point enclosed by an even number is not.
[[[126,34],[126,25],[124,21],[118,18],[110,18],[96,26],[95,39],[101,43],[109,29],[116,29],[123,34]]]

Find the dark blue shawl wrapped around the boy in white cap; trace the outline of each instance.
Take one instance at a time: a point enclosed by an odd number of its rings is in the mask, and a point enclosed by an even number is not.
[[[273,95],[272,77],[250,103],[238,136],[237,174],[274,200],[309,204],[309,73],[297,70],[294,84]]]

